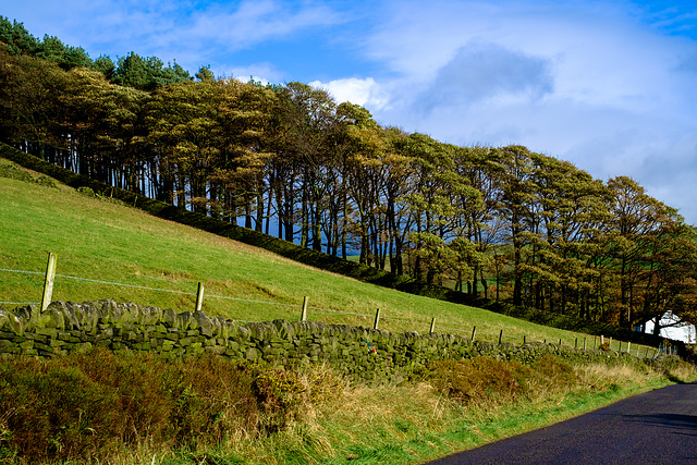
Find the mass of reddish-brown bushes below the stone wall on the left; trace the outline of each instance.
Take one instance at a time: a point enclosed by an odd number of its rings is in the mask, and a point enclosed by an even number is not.
[[[95,460],[144,444],[215,448],[279,431],[339,382],[322,369],[93,350],[0,360],[0,460]]]

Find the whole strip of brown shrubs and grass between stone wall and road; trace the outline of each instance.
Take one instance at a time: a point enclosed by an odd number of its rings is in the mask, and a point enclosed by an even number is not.
[[[367,386],[321,365],[15,357],[0,360],[0,463],[416,464],[695,379],[677,358],[477,357]]]

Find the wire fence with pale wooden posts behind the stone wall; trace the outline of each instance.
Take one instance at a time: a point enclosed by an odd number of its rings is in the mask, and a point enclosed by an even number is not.
[[[23,305],[40,305],[41,306],[41,310],[45,309],[48,304],[51,301],[51,292],[52,292],[52,286],[53,286],[53,282],[56,278],[60,278],[60,279],[66,279],[66,280],[75,280],[75,281],[82,281],[82,282],[88,282],[88,283],[94,283],[94,284],[106,284],[106,285],[114,285],[114,286],[120,286],[120,287],[129,287],[129,289],[138,289],[138,290],[144,290],[144,291],[150,291],[150,292],[166,292],[166,293],[172,293],[172,294],[179,294],[179,295],[186,295],[186,296],[193,296],[196,297],[196,310],[200,310],[201,304],[203,304],[203,298],[204,298],[204,287],[201,285],[201,283],[199,283],[198,285],[198,292],[193,293],[193,292],[186,292],[186,291],[181,291],[181,290],[172,290],[172,289],[162,289],[162,287],[154,287],[154,286],[146,286],[146,285],[138,285],[138,284],[127,284],[127,283],[121,283],[121,282],[114,282],[114,281],[106,281],[106,280],[97,280],[97,279],[89,279],[89,278],[82,278],[82,277],[75,277],[75,276],[68,276],[68,274],[56,274],[54,273],[54,256],[53,258],[51,258],[52,254],[50,254],[49,256],[49,266],[47,267],[47,271],[46,272],[40,272],[40,271],[27,271],[27,270],[15,270],[15,269],[4,269],[4,268],[0,268],[0,272],[5,272],[5,273],[19,273],[19,274],[34,274],[34,276],[44,276],[45,277],[45,293],[44,293],[44,298],[41,302],[4,302],[4,301],[0,301],[0,305],[17,305],[17,306],[23,306]],[[53,260],[53,271],[51,270],[51,259]],[[47,295],[47,289],[49,287],[49,293]],[[400,323],[403,328],[406,328],[407,331],[408,329],[412,329],[412,331],[414,331],[415,328],[428,328],[429,327],[429,322],[428,321],[415,321],[415,320],[404,320],[404,319],[399,319],[399,318],[393,318],[393,317],[383,317],[380,315],[380,310],[378,309],[376,314],[374,315],[369,315],[369,314],[362,314],[362,313],[356,313],[356,311],[346,311],[346,310],[338,310],[338,309],[332,309],[332,308],[325,308],[325,307],[316,307],[316,306],[309,306],[307,305],[307,297],[304,298],[302,307],[298,303],[280,303],[280,302],[272,302],[272,301],[259,301],[259,299],[249,299],[249,298],[242,298],[242,297],[233,297],[233,296],[228,296],[228,295],[206,295],[206,298],[217,298],[217,299],[223,299],[223,301],[235,301],[235,302],[243,302],[243,303],[250,303],[250,304],[260,304],[260,305],[273,305],[273,306],[282,306],[282,307],[293,307],[293,308],[302,308],[302,313],[301,313],[301,320],[306,320],[307,319],[307,310],[314,310],[316,313],[326,313],[326,314],[335,314],[335,315],[346,315],[346,316],[352,316],[352,317],[360,317],[360,318],[367,318],[367,319],[374,319],[374,329],[378,329],[379,328],[379,323],[386,322],[386,323]],[[242,319],[234,319],[234,321],[239,321],[239,322],[254,322],[253,320],[242,320]],[[530,343],[530,342],[541,342],[541,343],[548,343],[547,340],[542,340],[542,341],[533,341],[533,340],[528,340],[525,335],[523,335],[522,338],[519,335],[511,335],[511,334],[504,334],[503,330],[500,330],[498,334],[491,334],[491,333],[477,333],[477,328],[476,326],[474,326],[472,328],[472,330],[469,329],[465,329],[465,328],[453,328],[453,327],[448,327],[448,326],[443,326],[443,327],[438,327],[438,331],[439,332],[448,332],[450,334],[456,334],[456,335],[464,335],[469,338],[472,341],[474,341],[475,339],[477,340],[486,340],[486,341],[491,341],[491,342],[497,342],[498,339],[498,343],[505,343],[505,342],[510,342],[510,343],[516,343],[516,344],[526,344],[526,343]],[[429,328],[429,332],[433,333],[436,332],[436,318],[432,318],[430,320],[430,328]],[[590,344],[590,341],[592,340],[592,344]],[[598,344],[598,342],[600,341],[600,344]],[[568,342],[568,341],[566,341]],[[608,341],[604,340],[603,336],[584,336],[583,340],[580,340],[579,338],[575,338],[573,344],[566,344],[566,345],[572,345],[576,348],[584,348],[584,350],[595,350],[598,348],[601,344],[604,344],[606,342],[608,342],[608,348],[610,351],[615,351],[614,346],[613,346],[613,341],[612,339],[609,339]],[[563,340],[559,339],[559,340],[554,340],[554,341],[549,341],[549,343],[551,344],[555,344],[559,343],[559,345],[563,345]],[[624,351],[623,351],[623,344],[624,344]],[[614,345],[616,346],[616,352],[629,352],[631,351],[631,343],[627,342],[622,342],[622,341],[614,341]],[[646,348],[646,350],[645,350]],[[645,357],[649,356],[649,352],[650,348],[648,347],[639,347],[638,345],[635,346],[636,350],[636,356],[640,357],[640,350],[645,350]],[[672,347],[670,347],[669,345],[665,345],[664,347],[659,347],[658,350],[655,350],[655,353],[651,354],[652,356],[656,356],[658,353],[672,353],[673,350]]]

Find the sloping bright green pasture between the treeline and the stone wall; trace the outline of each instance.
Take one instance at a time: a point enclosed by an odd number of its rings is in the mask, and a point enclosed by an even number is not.
[[[478,339],[498,340],[503,330],[508,341],[522,342],[524,335],[565,344],[583,340],[582,334],[316,270],[58,182],[51,187],[13,179],[19,176],[7,168],[11,163],[0,166],[9,173],[0,176],[0,269],[41,272],[47,254],[56,253],[57,301],[114,298],[184,311],[193,309],[203,282],[204,311],[237,320],[297,319],[308,296],[308,318],[328,322],[371,326],[380,308],[381,328],[393,332],[427,332],[436,317],[438,332],[470,334],[476,326]],[[0,302],[38,302],[41,286],[40,274],[0,271]]]

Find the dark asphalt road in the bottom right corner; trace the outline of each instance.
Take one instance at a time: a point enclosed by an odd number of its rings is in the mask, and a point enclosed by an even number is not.
[[[697,464],[697,383],[638,394],[430,464]]]

